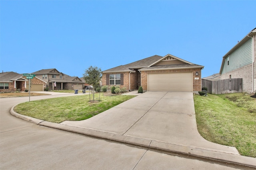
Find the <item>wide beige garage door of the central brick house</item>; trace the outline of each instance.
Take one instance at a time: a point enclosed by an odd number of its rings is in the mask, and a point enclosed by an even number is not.
[[[148,74],[148,91],[192,92],[192,72]]]

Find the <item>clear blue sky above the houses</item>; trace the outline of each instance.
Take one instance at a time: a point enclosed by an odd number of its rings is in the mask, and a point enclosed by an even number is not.
[[[153,55],[218,73],[222,57],[256,27],[256,1],[1,0],[0,70],[56,68],[82,77]]]

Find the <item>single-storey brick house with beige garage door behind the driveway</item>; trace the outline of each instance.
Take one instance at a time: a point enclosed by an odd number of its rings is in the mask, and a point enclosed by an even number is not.
[[[173,55],[154,55],[102,72],[102,85],[147,91],[201,91],[201,70],[204,66],[190,63]]]

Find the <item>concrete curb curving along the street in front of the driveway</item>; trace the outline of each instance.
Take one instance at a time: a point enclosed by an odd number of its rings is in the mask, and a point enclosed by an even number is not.
[[[209,159],[209,160],[217,160],[217,161],[224,162],[224,163],[231,163],[231,164],[256,168],[256,158],[237,155],[237,154],[231,154],[231,153],[226,153],[226,152],[219,152],[219,151],[215,151],[215,150],[185,146],[185,145],[177,145],[177,144],[166,143],[166,142],[162,142],[162,141],[154,141],[154,140],[150,140],[150,139],[142,139],[142,138],[118,135],[118,134],[114,134],[114,133],[96,131],[93,129],[85,129],[85,128],[80,128],[80,127],[52,123],[52,122],[32,118],[29,116],[20,115],[19,113],[16,113],[14,111],[15,106],[13,106],[10,111],[12,115],[14,115],[15,117],[18,117],[20,119],[24,119],[26,121],[36,123],[37,125],[51,127],[54,129],[60,129],[60,130],[69,131],[69,132],[73,132],[73,133],[79,133],[79,134],[88,135],[88,136],[92,136],[92,137],[98,137],[101,139],[108,139],[111,141],[127,143],[127,144],[131,144],[131,145],[137,145],[137,146],[141,146],[141,147],[146,147],[148,149],[157,149],[157,150],[162,150],[162,151],[167,151],[167,152],[176,152],[176,153],[196,156],[199,158],[205,158],[205,159]]]

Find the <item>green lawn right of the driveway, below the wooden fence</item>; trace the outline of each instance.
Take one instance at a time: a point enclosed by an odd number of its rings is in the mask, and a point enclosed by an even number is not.
[[[194,103],[202,137],[256,157],[256,98],[246,93],[194,95]]]

